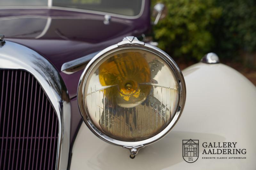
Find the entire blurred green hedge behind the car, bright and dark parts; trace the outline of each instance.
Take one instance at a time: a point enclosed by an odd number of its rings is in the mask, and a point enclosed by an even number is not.
[[[200,60],[208,52],[220,58],[256,51],[254,0],[152,0],[168,15],[153,27],[159,48],[174,58]]]

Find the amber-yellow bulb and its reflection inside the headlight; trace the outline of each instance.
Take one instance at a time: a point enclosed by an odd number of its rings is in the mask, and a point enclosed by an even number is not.
[[[120,107],[134,107],[143,102],[151,86],[147,60],[138,52],[114,55],[99,66],[99,80],[108,100],[115,98]]]

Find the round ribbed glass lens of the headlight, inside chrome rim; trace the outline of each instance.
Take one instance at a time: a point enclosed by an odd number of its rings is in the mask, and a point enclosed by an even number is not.
[[[83,93],[87,115],[102,133],[133,142],[166,128],[176,113],[180,89],[161,57],[145,49],[125,48],[92,64]]]

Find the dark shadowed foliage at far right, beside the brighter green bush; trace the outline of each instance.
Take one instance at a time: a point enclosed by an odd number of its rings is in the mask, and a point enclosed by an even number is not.
[[[223,11],[213,32],[218,42],[215,51],[233,60],[239,59],[241,52],[256,51],[256,1],[217,0],[217,4]]]

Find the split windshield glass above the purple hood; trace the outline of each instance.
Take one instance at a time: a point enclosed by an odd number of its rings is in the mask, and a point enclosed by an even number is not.
[[[109,12],[114,14],[139,15],[143,0],[52,0],[54,7]],[[0,6],[47,6],[47,0],[1,0]]]

